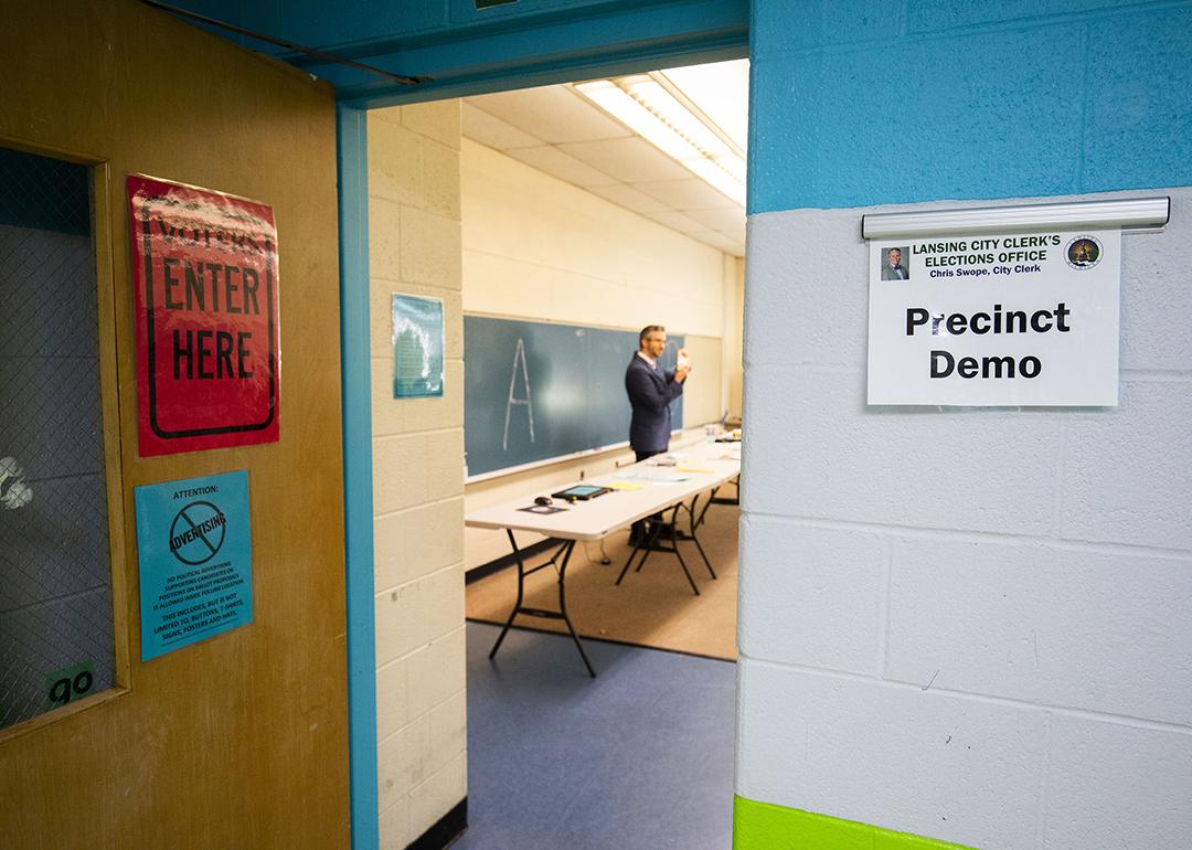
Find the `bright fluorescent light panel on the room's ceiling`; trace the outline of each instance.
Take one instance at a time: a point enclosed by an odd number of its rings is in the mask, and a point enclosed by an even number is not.
[[[745,161],[709,125],[648,74],[576,83],[576,91],[733,203],[745,206]]]

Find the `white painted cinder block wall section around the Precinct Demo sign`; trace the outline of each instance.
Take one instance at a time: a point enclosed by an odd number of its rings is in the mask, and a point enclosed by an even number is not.
[[[867,408],[869,210],[751,218],[738,794],[1192,846],[1192,190],[1099,197],[1159,193],[1105,409]]]

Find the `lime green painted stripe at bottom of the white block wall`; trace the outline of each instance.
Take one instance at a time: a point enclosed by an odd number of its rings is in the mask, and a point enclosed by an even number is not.
[[[826,814],[733,799],[733,850],[973,850]]]

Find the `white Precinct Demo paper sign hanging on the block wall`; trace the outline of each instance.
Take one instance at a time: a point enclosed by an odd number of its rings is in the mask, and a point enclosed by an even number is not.
[[[1120,230],[869,250],[869,404],[1117,404]]]

